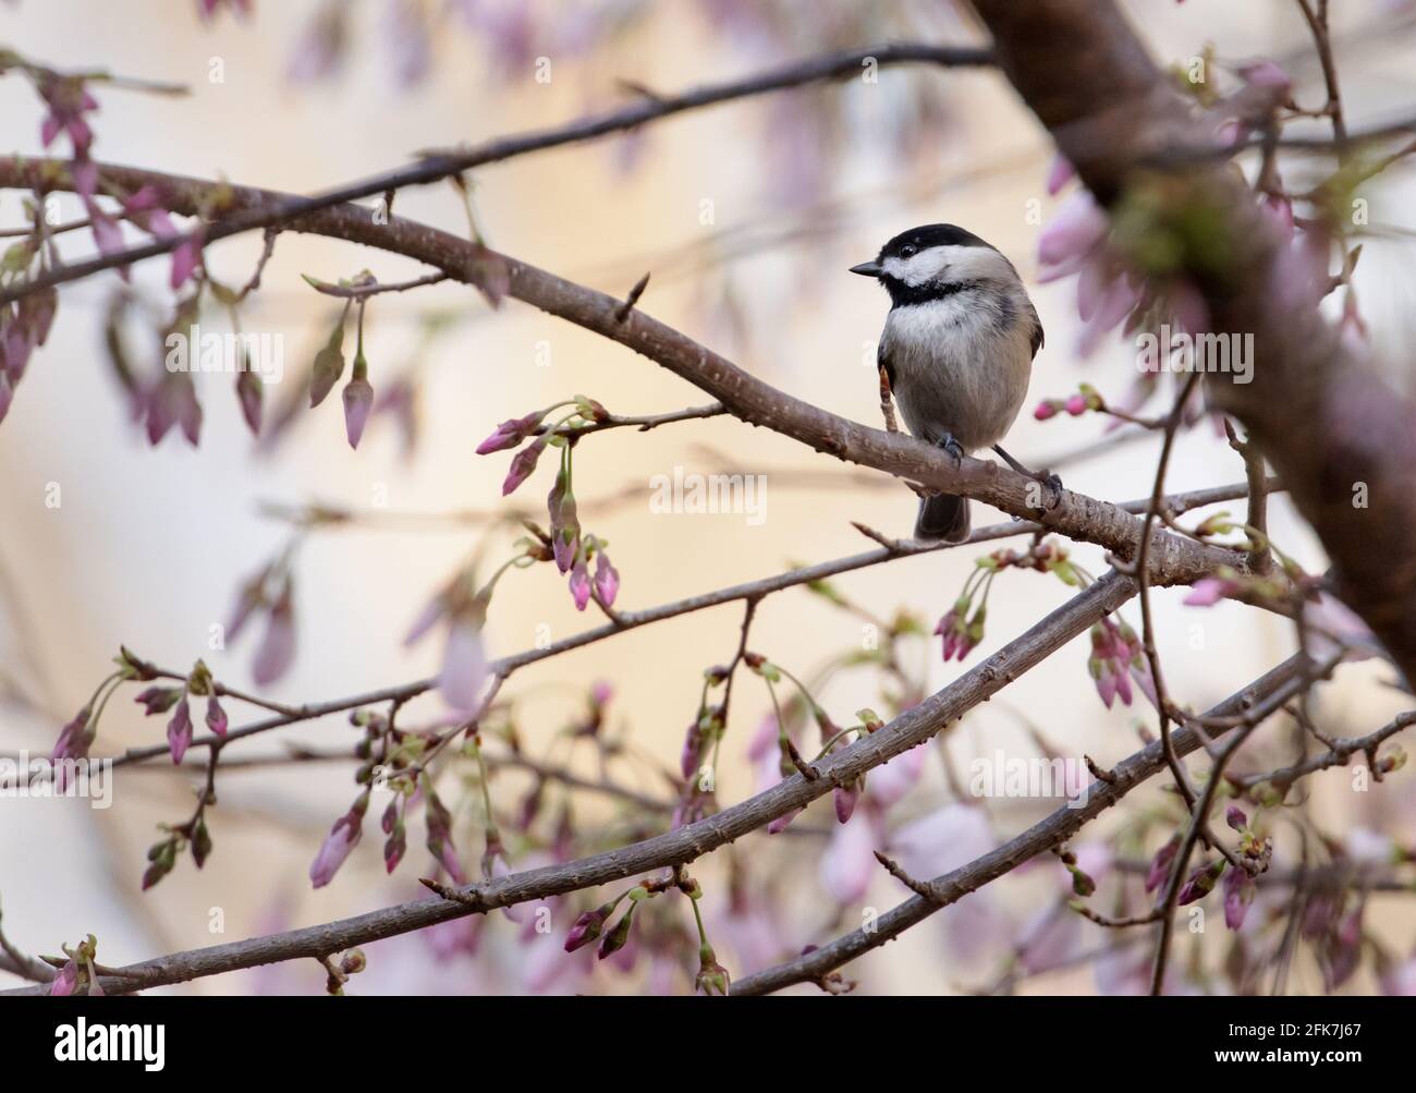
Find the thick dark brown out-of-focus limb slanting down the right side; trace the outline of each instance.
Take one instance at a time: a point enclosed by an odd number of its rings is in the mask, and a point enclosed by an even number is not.
[[[1000,67],[1103,202],[1140,164],[1158,163],[1160,149],[1212,142],[1110,0],[976,7]],[[1189,270],[1211,330],[1253,337],[1252,382],[1211,375],[1208,398],[1249,426],[1323,539],[1340,596],[1416,680],[1416,404],[1344,353],[1317,307],[1296,299],[1296,259],[1240,177],[1198,157],[1175,166],[1171,181],[1185,190],[1168,201],[1222,218],[1222,253]]]

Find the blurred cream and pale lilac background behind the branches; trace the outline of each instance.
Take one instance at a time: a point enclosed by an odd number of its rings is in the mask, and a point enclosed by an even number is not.
[[[106,68],[191,88],[187,98],[98,89],[101,110],[92,123],[99,161],[314,193],[405,163],[421,149],[477,143],[612,108],[633,98],[626,84],[671,92],[885,40],[981,41],[953,6],[923,0],[333,6],[256,0],[253,7],[248,18],[222,10],[204,21],[197,3],[180,0],[21,0],[0,4],[0,44],[64,71]],[[1291,3],[1136,0],[1127,7],[1163,62],[1184,64],[1212,42],[1218,71],[1273,58],[1294,78],[1300,102],[1321,101],[1311,40]],[[1349,126],[1359,130],[1410,116],[1416,14],[1399,3],[1354,0],[1334,7]],[[548,82],[537,79],[547,71],[538,58],[549,61]],[[27,84],[0,81],[0,147],[41,154],[42,113]],[[889,236],[925,222],[949,221],[977,232],[1012,258],[1029,282],[1048,336],[1029,406],[1066,396],[1083,381],[1109,398],[1133,385],[1136,354],[1129,340],[1113,334],[1083,355],[1075,285],[1034,283],[1038,236],[1061,200],[1044,185],[1051,156],[1045,135],[998,75],[915,65],[882,69],[878,84],[852,79],[782,92],[692,112],[641,133],[494,164],[474,173],[473,200],[491,246],[620,296],[649,270],[646,311],[794,395],[874,425],[879,419],[874,347],[886,299],[845,270],[874,256]],[[1372,228],[1355,286],[1374,345],[1405,367],[1409,357],[1392,350],[1409,344],[1412,176],[1396,167],[1365,195]],[[82,215],[76,201],[61,200],[65,219]],[[467,229],[449,185],[401,193],[396,212],[459,234]],[[0,224],[23,224],[18,194],[0,195]],[[65,241],[67,255],[86,253],[89,239],[81,235]],[[221,242],[205,259],[222,282],[239,285],[259,251],[256,234]],[[303,391],[295,387],[334,314],[300,275],[337,280],[362,268],[385,282],[425,272],[337,241],[279,238],[262,289],[242,314],[248,331],[283,336],[286,377],[268,389],[268,419],[286,398],[300,405]],[[55,333],[0,428],[4,752],[47,753],[59,726],[108,674],[119,643],[169,668],[185,670],[202,657],[218,680],[252,688],[258,634],[217,650],[210,637],[227,622],[239,585],[293,538],[299,539],[297,654],[292,670],[262,692],[304,702],[426,677],[438,668],[439,639],[406,648],[402,639],[413,617],[473,551],[481,549],[494,565],[510,556],[518,534],[457,515],[490,514],[506,504],[500,484],[510,453],[473,453],[497,422],[575,394],[626,415],[709,401],[651,362],[524,304],[507,302],[493,311],[469,290],[436,286],[377,297],[367,313],[375,392],[395,387],[416,392],[412,446],[396,415],[379,413],[351,452],[334,398],[314,411],[300,405],[275,440],[258,445],[242,423],[229,378],[198,377],[205,409],[200,447],[174,430],[153,449],[130,420],[106,364],[103,321],[116,283],[105,275],[62,290]],[[170,310],[166,262],[136,268],[133,289],[139,313]],[[225,328],[219,313],[202,320]],[[150,324],[146,334],[133,326],[126,336],[130,355],[156,367]],[[1406,384],[1409,377],[1396,379]],[[1168,406],[1170,389],[1163,391],[1147,412]],[[1008,447],[1029,466],[1056,469],[1070,488],[1119,501],[1148,494],[1158,436],[1109,432],[1100,415],[1038,422],[1024,413]],[[623,580],[619,605],[626,609],[869,549],[851,521],[908,535],[915,513],[903,486],[731,419],[592,436],[576,449],[575,464],[582,524],[610,544]],[[743,514],[651,513],[650,480],[673,476],[675,467],[766,474],[766,518],[753,524]],[[511,500],[537,505],[549,477],[542,467]],[[1202,420],[1181,437],[1168,487],[1242,479],[1239,457]],[[296,537],[290,522],[270,511],[316,503],[362,515]],[[1229,508],[1239,515],[1242,503]],[[1003,518],[976,503],[976,527]],[[1321,572],[1315,541],[1281,497],[1273,504],[1272,532],[1283,549]],[[878,616],[913,613],[927,631],[987,549],[896,561],[835,583]],[[1078,546],[1075,556],[1095,573],[1104,569],[1096,548]],[[937,639],[919,639],[908,646],[915,658],[910,670],[923,673],[932,692],[1069,595],[1051,578],[1004,573],[973,660],[963,668],[944,664]],[[1233,605],[1184,607],[1182,596],[1182,590],[1154,596],[1168,685],[1182,702],[1208,706],[1294,648],[1291,627],[1276,617]],[[1123,616],[1138,626],[1134,605]],[[486,640],[493,656],[506,656],[599,622],[593,606],[576,613],[564,579],[537,566],[511,572],[500,583]],[[732,657],[739,622],[741,606],[718,607],[518,671],[503,697],[515,699],[523,746],[534,756],[568,757],[593,774],[592,753],[568,748],[559,733],[583,715],[589,688],[607,681],[613,698],[606,731],[623,732],[634,752],[613,767],[616,777],[666,796],[654,772],[677,767],[702,670]],[[860,617],[794,589],[763,602],[750,646],[804,677],[858,648],[861,633]],[[963,827],[987,848],[1056,806],[1020,799],[956,804],[947,769],[966,772],[978,755],[995,749],[1037,755],[1039,738],[1059,755],[1086,752],[1103,763],[1136,750],[1137,728],[1153,711],[1144,704],[1104,709],[1086,673],[1087,654],[1082,637],[969,714],[942,743],[923,749],[927,763],[919,786],[889,814],[888,830],[895,832],[889,844],[908,842],[918,868],[937,871],[961,861],[950,857],[959,849],[959,813],[946,813],[944,823],[940,810],[967,807]],[[1327,731],[1369,732],[1400,709],[1403,695],[1385,685],[1391,675],[1381,661],[1344,667],[1315,701]],[[718,789],[724,806],[755,791],[746,750],[770,712],[759,680],[743,674],[736,688]],[[881,680],[869,670],[833,674],[817,698],[843,723],[861,706],[886,711]],[[259,716],[235,704],[231,712],[238,725]],[[436,695],[409,706],[415,719],[440,712]],[[161,722],[140,716],[120,692],[105,715],[95,755],[160,743]],[[348,749],[354,740],[338,715],[256,738],[239,755],[278,757],[292,745]],[[1280,723],[1270,725],[1253,746],[1249,769],[1264,769],[1266,757],[1273,760],[1267,766],[1279,765],[1289,742]],[[200,766],[174,772],[161,757],[122,769],[109,810],[92,810],[82,800],[0,797],[6,934],[28,951],[57,953],[62,942],[92,932],[101,960],[116,966],[416,898],[422,892],[416,876],[428,875],[421,832],[409,834],[411,861],[388,878],[372,821],[334,882],[310,889],[309,862],[357,791],[353,769],[350,760],[222,773],[219,803],[208,820],[215,841],[211,859],[200,874],[183,861],[146,893],[139,881],[144,851],[157,838],[154,825],[190,813]],[[517,779],[508,773],[494,780],[508,807],[527,786]],[[1371,793],[1355,793],[1349,772],[1313,779],[1310,834],[1321,832],[1338,847],[1366,840],[1364,852],[1378,855],[1389,852],[1383,840],[1392,835],[1409,845],[1416,794],[1406,782],[1396,776]],[[1086,835],[1097,842],[1119,830],[1134,835],[1163,817],[1172,825],[1177,816],[1157,779]],[[613,801],[596,797],[578,806],[575,817],[586,832],[602,832],[607,841],[615,838],[613,825],[624,821]],[[457,820],[459,847],[474,869],[480,835],[472,816],[457,811]],[[704,878],[708,905],[724,917],[732,917],[725,905],[729,872],[741,872],[749,889],[776,878],[773,913],[763,912],[749,926],[724,926],[719,957],[735,975],[854,929],[871,908],[884,912],[906,895],[879,874],[864,895],[843,902],[830,866],[818,865],[824,844],[840,840],[830,804],[820,801],[797,824],[804,834],[752,835],[731,855],[715,855],[694,869]],[[1291,868],[1296,837],[1281,824],[1274,834],[1276,866]],[[1158,838],[1136,835],[1133,842],[1129,857],[1144,859]],[[511,866],[535,864],[535,852],[514,849]],[[1096,852],[1102,854],[1100,845]],[[1066,881],[1055,859],[1037,862],[847,968],[847,975],[869,992],[1117,988],[1130,971],[1127,960],[1148,958],[1148,934],[1117,939],[1080,919],[1059,917],[1055,908]],[[1113,892],[1107,883],[1121,882],[1102,881],[1102,909]],[[1369,902],[1366,926],[1395,958],[1410,951],[1416,932],[1409,900],[1396,892],[1375,893]],[[678,905],[671,910],[687,915]],[[548,970],[556,960],[572,960],[558,950],[573,913],[555,913],[548,940],[527,937],[523,927],[493,916],[480,927],[476,956],[463,953],[466,944],[457,937],[440,946],[418,936],[371,946],[370,970],[350,990],[599,992],[641,990],[646,983],[691,988],[691,949],[683,967],[670,957],[593,971],[581,961],[573,975]],[[1232,988],[1191,954],[1191,949],[1208,953],[1214,966],[1231,944],[1218,913],[1211,934],[1181,936],[1174,963],[1185,980],[1177,990]],[[323,977],[309,961],[309,967],[235,973],[177,990],[319,991]],[[1289,990],[1321,985],[1311,961],[1294,963]],[[1364,971],[1344,990],[1378,985]]]

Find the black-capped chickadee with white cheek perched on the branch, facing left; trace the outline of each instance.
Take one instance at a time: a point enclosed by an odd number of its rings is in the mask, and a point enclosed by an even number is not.
[[[1061,486],[998,447],[1042,348],[1042,323],[1012,263],[963,228],[926,224],[896,235],[851,273],[877,277],[889,292],[878,360],[909,430],[956,460],[991,445],[1014,470]],[[969,498],[920,500],[915,538],[969,538]]]

